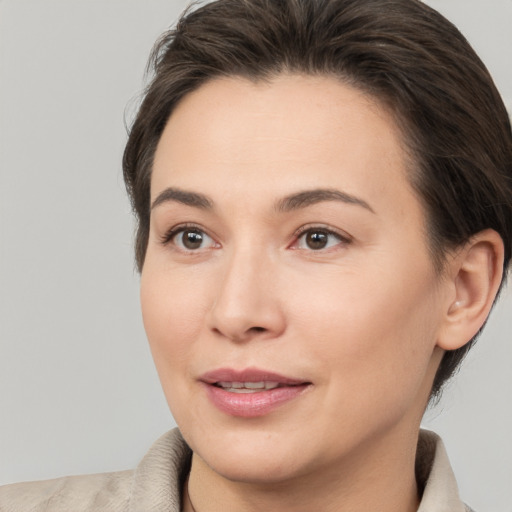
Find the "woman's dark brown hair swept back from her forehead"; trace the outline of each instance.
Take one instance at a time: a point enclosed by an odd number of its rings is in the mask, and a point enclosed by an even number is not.
[[[418,0],[217,0],[190,8],[155,45],[153,73],[123,157],[137,219],[139,271],[149,237],[160,136],[179,101],[219,77],[324,75],[394,115],[439,271],[449,251],[491,228],[512,252],[512,133],[489,72],[458,29]],[[502,282],[503,285],[503,282]],[[478,336],[478,335],[477,335]],[[445,353],[437,397],[477,336]]]

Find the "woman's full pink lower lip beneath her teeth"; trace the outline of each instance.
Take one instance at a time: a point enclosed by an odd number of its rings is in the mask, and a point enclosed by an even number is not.
[[[274,411],[301,395],[309,384],[283,386],[255,393],[232,393],[204,383],[209,399],[218,409],[231,416],[256,418]]]

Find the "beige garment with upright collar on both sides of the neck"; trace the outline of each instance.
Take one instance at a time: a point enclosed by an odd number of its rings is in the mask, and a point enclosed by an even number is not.
[[[180,512],[191,451],[178,429],[162,436],[133,471],[70,476],[0,487],[0,512]],[[460,500],[441,439],[420,432],[418,512],[472,512]]]

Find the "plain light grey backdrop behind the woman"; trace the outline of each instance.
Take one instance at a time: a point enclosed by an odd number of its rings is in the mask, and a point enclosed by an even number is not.
[[[512,105],[512,1],[430,0]],[[174,426],[142,327],[121,176],[182,0],[0,0],[0,483],[132,468]],[[425,425],[461,494],[512,512],[512,294]]]

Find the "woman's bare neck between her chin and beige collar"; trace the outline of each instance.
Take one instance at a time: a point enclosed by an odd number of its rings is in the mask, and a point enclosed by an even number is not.
[[[361,447],[330,468],[279,482],[224,478],[198,455],[185,488],[184,512],[415,512],[419,506],[414,464],[417,436],[396,449],[389,439]],[[390,449],[395,447],[395,449]],[[190,496],[190,498],[189,498]]]

